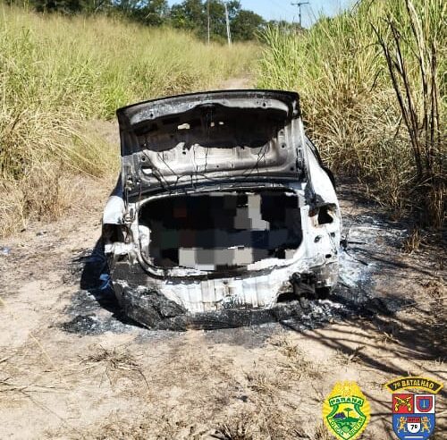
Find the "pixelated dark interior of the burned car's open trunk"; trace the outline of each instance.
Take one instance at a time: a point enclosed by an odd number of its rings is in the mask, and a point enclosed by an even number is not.
[[[139,235],[156,267],[223,270],[291,258],[302,241],[299,198],[264,190],[156,199],[139,210]]]

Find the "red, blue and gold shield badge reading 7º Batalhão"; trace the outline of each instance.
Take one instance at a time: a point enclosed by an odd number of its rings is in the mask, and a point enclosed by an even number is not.
[[[392,429],[396,436],[401,440],[427,440],[434,432],[435,393],[443,385],[422,377],[401,377],[386,387],[392,391]]]

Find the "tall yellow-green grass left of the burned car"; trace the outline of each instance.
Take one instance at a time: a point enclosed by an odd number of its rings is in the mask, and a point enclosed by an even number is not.
[[[0,235],[69,204],[63,182],[116,169],[88,122],[119,106],[244,74],[250,44],[206,44],[118,19],[39,15],[0,4]]]

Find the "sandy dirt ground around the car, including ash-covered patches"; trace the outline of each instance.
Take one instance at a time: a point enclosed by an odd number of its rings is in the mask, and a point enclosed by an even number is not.
[[[114,126],[98,129],[115,141]],[[349,245],[332,300],[281,322],[178,333],[129,322],[89,284],[114,181],[76,184],[69,216],[0,241],[0,438],[328,439],[323,401],[349,379],[371,405],[361,438],[382,440],[394,437],[385,382],[445,383],[445,254],[402,253],[408,225],[355,185],[339,189]],[[431,438],[446,438],[445,391],[436,404]]]

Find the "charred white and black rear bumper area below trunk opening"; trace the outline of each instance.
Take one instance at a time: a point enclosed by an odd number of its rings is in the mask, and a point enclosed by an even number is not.
[[[277,320],[295,307],[278,304],[280,295],[294,291],[294,283],[333,287],[337,277],[336,260],[316,267],[299,262],[254,275],[207,280],[156,279],[138,262],[129,261],[116,263],[112,271],[114,292],[127,316],[144,326],[171,329],[249,326]]]

